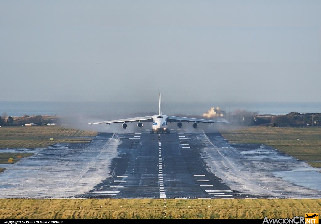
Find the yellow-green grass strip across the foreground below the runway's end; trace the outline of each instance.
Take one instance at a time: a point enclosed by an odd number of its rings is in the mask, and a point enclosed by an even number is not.
[[[272,219],[320,210],[320,199],[0,199],[0,219]]]

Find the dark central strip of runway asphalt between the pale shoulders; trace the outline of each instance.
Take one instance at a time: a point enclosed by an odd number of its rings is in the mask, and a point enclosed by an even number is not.
[[[112,160],[111,177],[103,180],[87,194],[75,197],[160,198],[160,186],[162,186],[160,172],[166,198],[249,197],[231,191],[221,179],[210,172],[201,158],[201,149],[204,145],[196,139],[195,134],[160,135],[161,152],[158,136],[158,134],[118,134],[123,140],[117,149],[118,158]],[[179,136],[186,136],[187,140],[180,140]],[[187,141],[186,144],[189,144],[190,148],[182,148],[184,145],[181,145],[180,141]],[[137,145],[135,146],[137,149],[131,148],[133,144]],[[160,164],[162,170],[159,169]]]

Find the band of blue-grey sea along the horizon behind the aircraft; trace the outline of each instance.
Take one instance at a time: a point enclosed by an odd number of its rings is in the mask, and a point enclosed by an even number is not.
[[[112,116],[158,112],[157,103],[104,103],[104,102],[35,102],[35,101],[0,101],[0,116],[20,117],[23,115],[57,115],[57,116]],[[291,112],[320,113],[320,103],[162,103],[165,115],[185,114],[202,115],[211,107],[220,107],[226,113],[237,110],[258,112],[258,114],[281,115]]]

